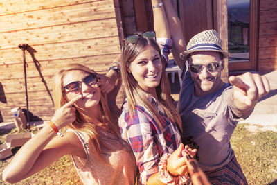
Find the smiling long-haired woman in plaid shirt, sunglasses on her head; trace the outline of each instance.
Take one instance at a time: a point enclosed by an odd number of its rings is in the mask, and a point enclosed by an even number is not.
[[[121,74],[127,98],[118,123],[122,138],[132,146],[142,184],[184,184],[188,170],[181,156],[181,119],[165,70],[172,41],[157,39],[160,48],[155,37],[148,32],[125,39]]]

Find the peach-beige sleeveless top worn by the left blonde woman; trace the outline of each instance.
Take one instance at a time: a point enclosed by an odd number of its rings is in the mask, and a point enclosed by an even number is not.
[[[93,157],[89,152],[89,144],[84,133],[68,131],[78,136],[87,154],[87,159],[71,155],[75,169],[84,184],[135,184],[138,169],[129,143],[114,134],[99,130],[100,147],[105,161],[103,164],[98,157]]]

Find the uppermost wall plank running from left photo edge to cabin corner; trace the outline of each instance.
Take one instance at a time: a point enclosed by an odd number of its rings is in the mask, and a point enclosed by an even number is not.
[[[81,3],[15,15],[0,16],[0,33],[116,18],[110,1]]]

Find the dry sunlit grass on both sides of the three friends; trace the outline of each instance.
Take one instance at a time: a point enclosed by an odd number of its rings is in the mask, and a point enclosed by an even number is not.
[[[249,132],[240,124],[231,144],[250,185],[277,184],[277,132]],[[11,132],[15,132],[12,130]],[[5,134],[0,136],[3,143]],[[15,148],[13,152],[16,152]],[[11,157],[0,161],[0,175]],[[2,176],[2,175],[1,175]],[[3,181],[0,180],[0,184]],[[69,156],[62,157],[39,173],[16,184],[82,184]]]

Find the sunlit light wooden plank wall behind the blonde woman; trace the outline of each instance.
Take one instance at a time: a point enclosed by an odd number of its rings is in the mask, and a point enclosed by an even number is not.
[[[118,6],[118,0],[2,0],[1,121],[12,121],[14,107],[26,109],[19,44],[28,44],[33,50],[26,51],[29,111],[47,120],[54,113],[51,94],[55,71],[80,63],[105,73],[120,53]]]

